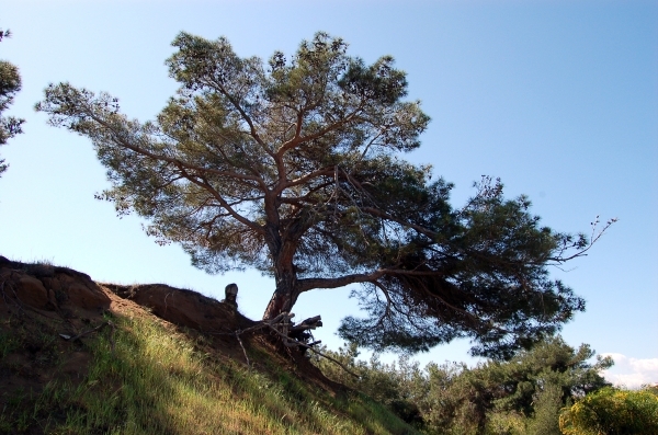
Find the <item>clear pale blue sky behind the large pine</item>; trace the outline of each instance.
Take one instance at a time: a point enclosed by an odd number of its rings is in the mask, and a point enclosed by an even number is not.
[[[217,298],[236,282],[241,310],[260,318],[269,279],[249,271],[208,276],[179,247],[147,238],[138,218],[115,217],[93,199],[107,182],[90,142],[48,127],[32,106],[49,82],[70,81],[117,96],[128,116],[154,118],[177,88],[163,61],[178,32],[224,35],[239,55],[266,58],[292,54],[321,30],[350,43],[351,55],[389,54],[407,71],[409,98],[432,123],[406,158],[454,182],[455,206],[488,174],[509,196],[527,194],[555,229],[587,232],[597,215],[620,218],[589,256],[553,271],[588,301],[563,335],[642,362],[633,367],[644,367],[643,379],[658,381],[656,23],[650,1],[7,2],[0,27],[13,37],[0,43],[0,58],[20,67],[11,114],[27,123],[0,149],[11,164],[0,179],[0,254]],[[358,309],[348,295],[305,294],[295,311],[321,314],[317,335],[337,347],[338,322]],[[472,360],[467,347],[419,358]]]

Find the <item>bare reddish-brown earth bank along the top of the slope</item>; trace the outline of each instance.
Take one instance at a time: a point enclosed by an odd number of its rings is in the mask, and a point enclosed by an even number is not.
[[[172,330],[204,335],[209,343],[204,352],[241,364],[246,364],[245,353],[231,332],[257,323],[230,305],[192,290],[163,284],[95,283],[68,267],[24,264],[0,255],[0,410],[16,393],[38,394],[54,379],[83,381],[91,359],[84,342],[92,334],[75,342],[60,334],[70,337],[92,330],[105,322],[105,314],[157,317]],[[304,380],[332,392],[344,390],[325,378],[300,351],[283,346],[265,330],[241,336],[247,348],[264,350]],[[252,363],[257,369],[264,367]]]

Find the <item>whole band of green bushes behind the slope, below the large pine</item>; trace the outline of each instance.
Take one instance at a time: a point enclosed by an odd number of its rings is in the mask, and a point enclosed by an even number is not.
[[[560,409],[609,386],[600,373],[612,365],[610,358],[588,363],[594,355],[588,345],[576,350],[559,337],[509,362],[489,360],[474,368],[447,363],[420,369],[406,358],[397,365],[382,364],[376,357],[360,362],[354,344],[330,355],[361,377],[318,360],[328,377],[372,396],[394,412],[399,412],[395,403],[404,401],[417,411],[410,422],[436,434],[557,435]]]

